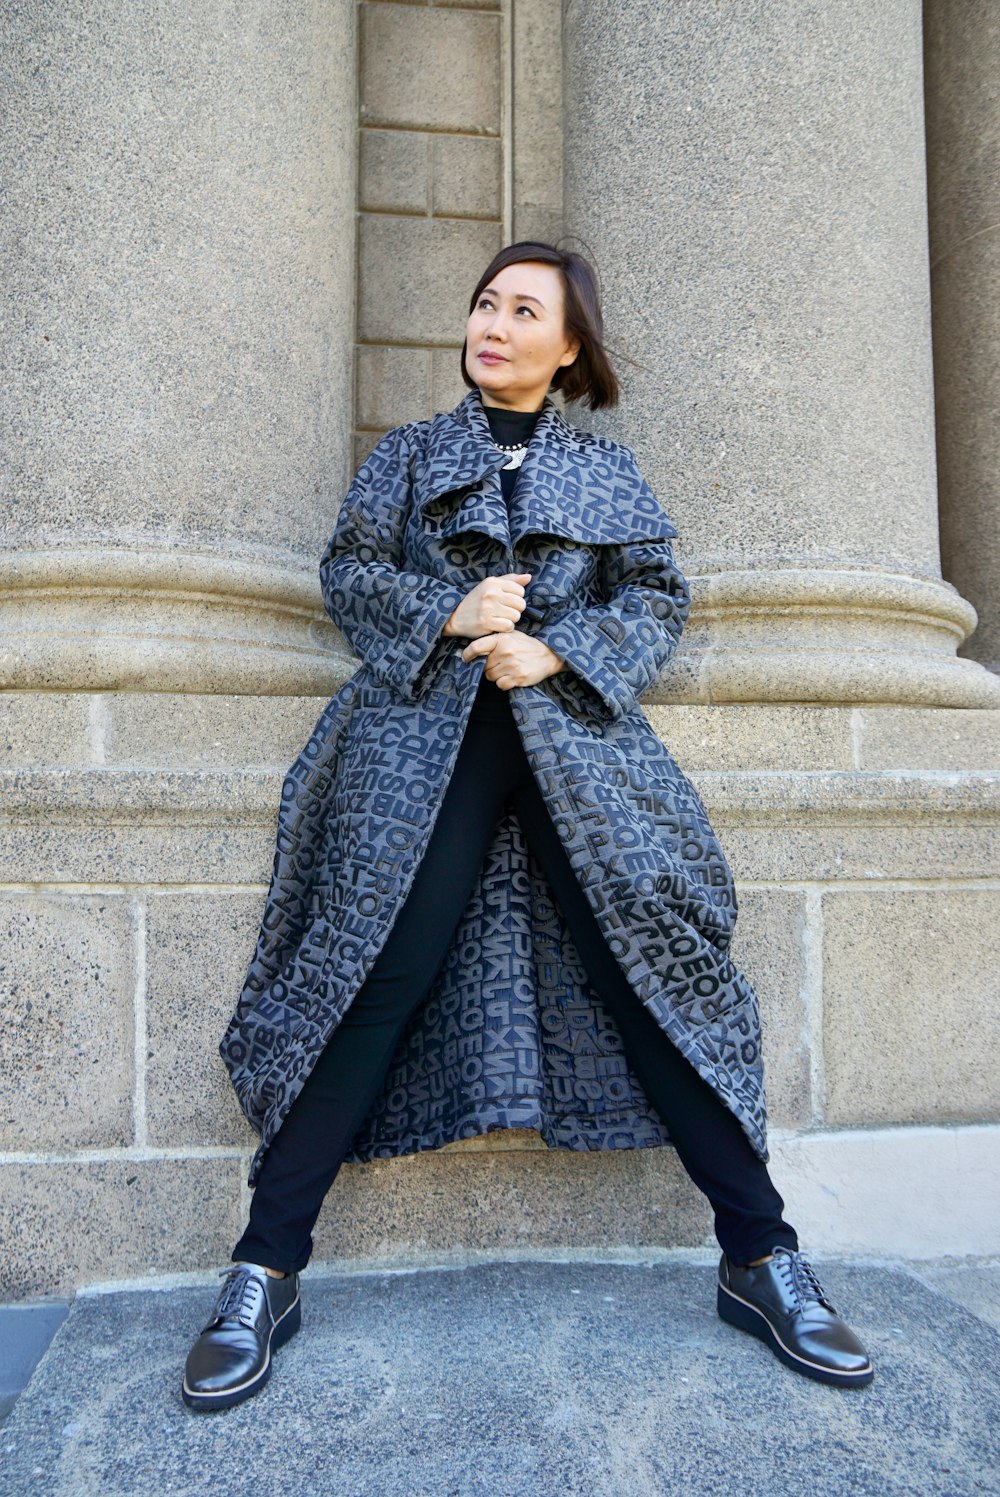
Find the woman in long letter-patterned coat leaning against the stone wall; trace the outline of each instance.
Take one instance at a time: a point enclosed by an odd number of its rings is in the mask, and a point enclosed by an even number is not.
[[[451,415],[382,439],[320,564],[362,665],[284,781],[220,1046],[260,1147],[184,1398],[263,1385],[344,1159],[493,1127],[672,1142],[714,1210],[720,1314],[796,1371],[867,1383],[768,1177],[732,876],[636,701],[687,617],[677,531],[632,452],[548,398],[617,401],[587,262],[501,250],[463,376]]]

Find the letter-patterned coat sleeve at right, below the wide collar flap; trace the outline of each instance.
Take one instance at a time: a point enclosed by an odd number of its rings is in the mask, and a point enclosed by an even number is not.
[[[588,705],[596,698],[599,714],[615,722],[674,654],[690,591],[669,540],[605,545],[599,575],[605,602],[560,614],[536,638],[590,687]],[[561,672],[549,683],[560,696],[570,689]]]

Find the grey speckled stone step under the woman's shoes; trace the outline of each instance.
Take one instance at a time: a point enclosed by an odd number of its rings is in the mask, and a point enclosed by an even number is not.
[[[269,1385],[190,1413],[216,1281],[79,1295],[0,1430],[3,1497],[964,1497],[1000,1490],[1000,1332],[915,1272],[816,1260],[876,1379],[717,1319],[714,1262],[308,1274]],[[997,1272],[982,1278],[987,1314]]]

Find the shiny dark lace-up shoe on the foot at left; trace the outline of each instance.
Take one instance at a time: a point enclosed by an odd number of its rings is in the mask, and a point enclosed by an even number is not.
[[[223,1269],[211,1320],[187,1355],[181,1397],[189,1409],[229,1409],[259,1392],[271,1353],[302,1323],[298,1274],[272,1278],[257,1263]]]

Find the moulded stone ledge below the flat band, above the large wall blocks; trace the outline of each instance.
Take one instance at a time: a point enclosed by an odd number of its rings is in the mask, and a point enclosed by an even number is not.
[[[283,771],[0,771],[0,882],[263,885]],[[1000,774],[692,775],[738,880],[996,879]]]

